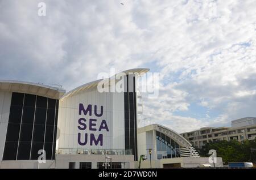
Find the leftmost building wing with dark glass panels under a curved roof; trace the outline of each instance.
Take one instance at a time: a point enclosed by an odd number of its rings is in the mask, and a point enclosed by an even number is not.
[[[0,166],[55,159],[59,99],[65,91],[39,83],[0,81]]]

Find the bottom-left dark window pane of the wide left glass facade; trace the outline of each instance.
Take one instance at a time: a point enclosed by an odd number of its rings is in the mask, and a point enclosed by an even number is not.
[[[3,160],[16,160],[18,142],[6,142]]]

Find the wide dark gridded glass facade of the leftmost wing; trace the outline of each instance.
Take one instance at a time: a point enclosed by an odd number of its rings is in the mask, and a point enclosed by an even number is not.
[[[59,100],[25,93],[13,93],[3,160],[55,158]]]

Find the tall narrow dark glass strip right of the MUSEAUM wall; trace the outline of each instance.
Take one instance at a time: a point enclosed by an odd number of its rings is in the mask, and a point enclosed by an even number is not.
[[[134,160],[138,160],[137,152],[137,109],[135,92],[135,77],[131,75],[126,76],[126,92],[125,97],[125,150],[131,150],[134,155]],[[132,82],[133,88],[129,88],[129,81]],[[132,90],[132,92],[129,91]]]

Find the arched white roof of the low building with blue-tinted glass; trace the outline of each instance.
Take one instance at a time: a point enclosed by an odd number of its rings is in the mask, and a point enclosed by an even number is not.
[[[175,132],[174,130],[171,130],[170,128],[166,126],[162,126],[159,124],[149,125],[145,127],[141,127],[138,129],[138,134],[142,132],[152,131],[156,130],[159,132],[162,132],[166,136],[173,139],[176,143],[180,145],[180,147],[191,147],[192,144],[188,142],[187,139],[185,139],[183,136],[181,136],[179,133]]]

